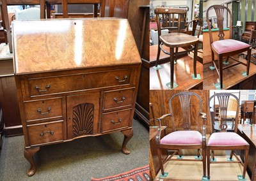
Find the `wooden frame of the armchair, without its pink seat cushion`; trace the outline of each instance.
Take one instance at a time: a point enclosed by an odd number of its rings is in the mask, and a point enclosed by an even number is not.
[[[191,104],[191,99],[197,99],[198,101],[198,115],[195,114],[197,117],[197,130],[201,130],[201,124],[200,120],[202,118],[203,124],[202,124],[202,144],[196,145],[169,145],[169,144],[161,144],[161,122],[163,120],[166,120],[168,117],[170,117],[171,123],[172,123],[172,131],[177,131],[175,128],[175,120],[174,120],[174,115],[173,115],[173,106],[172,106],[172,101],[173,99],[176,98],[176,104],[177,104],[177,98],[179,97],[180,100],[180,106],[182,109],[182,117],[183,117],[183,124],[182,127],[184,128],[184,131],[189,131],[191,130],[191,116],[193,112],[195,113],[194,106]],[[169,107],[170,107],[170,113],[164,114],[163,116],[159,117],[157,119],[158,124],[158,129],[157,129],[157,136],[156,136],[156,143],[157,143],[157,154],[158,154],[158,159],[159,159],[159,164],[161,168],[161,175],[164,175],[164,166],[163,164],[166,163],[166,161],[171,161],[173,160],[172,157],[175,156],[175,154],[179,154],[179,156],[182,156],[182,149],[197,149],[197,156],[202,159],[182,159],[182,161],[202,161],[203,162],[203,171],[204,171],[204,177],[206,177],[206,130],[205,130],[205,122],[206,122],[206,114],[202,113],[202,99],[198,94],[195,92],[179,92],[177,94],[174,94],[172,98],[170,98],[169,101]],[[168,121],[167,120],[167,121]],[[162,158],[162,149],[165,150],[175,150],[172,155],[168,156],[164,161]],[[200,152],[200,149],[202,149],[202,153]],[[175,161],[179,161],[180,159],[175,159]],[[181,161],[181,160],[180,160]]]

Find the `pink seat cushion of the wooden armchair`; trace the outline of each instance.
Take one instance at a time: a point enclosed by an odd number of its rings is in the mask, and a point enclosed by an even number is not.
[[[202,134],[198,131],[174,131],[164,136],[160,143],[168,145],[199,145],[202,144]]]

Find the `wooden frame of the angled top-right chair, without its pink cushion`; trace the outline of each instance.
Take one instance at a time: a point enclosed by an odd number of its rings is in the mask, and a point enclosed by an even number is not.
[[[217,71],[217,73],[219,75],[219,79],[220,79],[220,87],[222,89],[223,88],[223,69],[227,69],[227,68],[230,68],[232,66],[236,66],[237,64],[243,64],[244,66],[246,66],[246,75],[249,75],[252,47],[241,48],[241,49],[236,50],[236,51],[225,52],[223,54],[218,54],[218,52],[216,52],[216,50],[214,48],[212,48],[212,43],[214,41],[213,41],[213,38],[212,38],[211,24],[210,24],[210,20],[209,20],[209,10],[211,10],[212,8],[214,8],[214,10],[216,12],[217,24],[218,24],[218,28],[219,28],[219,33],[218,33],[219,40],[224,40],[224,36],[225,36],[224,31],[223,31],[223,21],[224,21],[225,10],[228,11],[228,17],[229,17],[229,20],[230,20],[229,36],[227,37],[227,39],[232,39],[232,13],[227,7],[222,6],[222,5],[212,5],[206,11],[206,20],[207,20],[207,25],[208,25],[209,35],[210,35],[210,42],[211,42],[212,66],[214,66],[216,68],[216,71]],[[247,55],[248,55],[247,58],[246,58],[247,63],[244,63],[244,62],[239,61],[238,59],[235,59],[234,57],[232,57],[232,55],[241,54],[245,51],[247,51]],[[218,66],[217,66],[217,64],[214,60],[214,55],[216,55],[217,58],[218,58]],[[227,57],[227,59],[225,61],[226,63],[228,62],[229,58],[236,61],[236,63],[223,67],[223,58],[225,58],[225,57]]]

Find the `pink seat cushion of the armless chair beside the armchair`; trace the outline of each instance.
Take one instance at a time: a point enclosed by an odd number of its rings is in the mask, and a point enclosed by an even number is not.
[[[249,145],[247,141],[244,140],[241,136],[234,132],[220,132],[212,133],[208,146],[235,146],[235,145]]]

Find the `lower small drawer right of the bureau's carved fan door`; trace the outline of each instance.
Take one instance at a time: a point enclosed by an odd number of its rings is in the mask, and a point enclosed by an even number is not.
[[[120,110],[116,112],[103,113],[102,115],[102,133],[115,129],[129,127],[129,120],[132,109]]]

